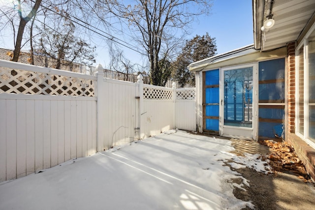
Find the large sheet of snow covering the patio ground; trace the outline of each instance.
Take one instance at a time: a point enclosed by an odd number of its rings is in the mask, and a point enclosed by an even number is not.
[[[0,183],[0,209],[238,210],[251,202],[233,195],[249,185],[232,171],[265,171],[258,156],[232,154],[231,142],[171,130],[67,161],[42,173]],[[242,178],[243,184],[231,180]]]

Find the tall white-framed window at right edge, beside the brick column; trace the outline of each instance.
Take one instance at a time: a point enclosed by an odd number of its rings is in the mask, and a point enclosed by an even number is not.
[[[297,48],[297,133],[315,147],[315,26]]]

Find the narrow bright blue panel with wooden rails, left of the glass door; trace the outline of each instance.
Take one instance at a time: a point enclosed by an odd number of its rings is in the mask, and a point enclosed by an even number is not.
[[[203,128],[205,132],[219,134],[219,69],[204,72]]]

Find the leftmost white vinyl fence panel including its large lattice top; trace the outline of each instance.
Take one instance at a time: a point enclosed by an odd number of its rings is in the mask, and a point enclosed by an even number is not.
[[[0,181],[96,152],[94,76],[0,63]]]

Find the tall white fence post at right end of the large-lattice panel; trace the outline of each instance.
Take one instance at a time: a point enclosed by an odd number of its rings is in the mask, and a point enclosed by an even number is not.
[[[105,132],[102,128],[105,125],[105,113],[104,113],[104,105],[105,105],[105,96],[102,94],[102,90],[105,89],[104,83],[104,69],[101,64],[98,64],[95,68],[95,76],[96,76],[96,151],[100,152],[105,149],[104,141],[105,141]]]

